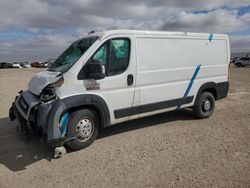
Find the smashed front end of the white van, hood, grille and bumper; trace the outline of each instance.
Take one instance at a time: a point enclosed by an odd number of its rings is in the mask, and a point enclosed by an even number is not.
[[[68,112],[56,89],[64,82],[59,72],[41,72],[34,76],[28,90],[20,91],[9,110],[11,121],[18,122],[20,134],[36,132],[46,136],[51,146],[62,146],[67,138]]]

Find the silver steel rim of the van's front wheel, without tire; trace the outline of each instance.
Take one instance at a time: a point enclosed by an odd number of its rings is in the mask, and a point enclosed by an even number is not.
[[[82,118],[76,126],[76,139],[86,142],[94,132],[94,121],[90,118]]]

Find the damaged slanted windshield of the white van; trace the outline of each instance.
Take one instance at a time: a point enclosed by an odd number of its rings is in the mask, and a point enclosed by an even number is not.
[[[95,37],[87,37],[75,41],[67,50],[65,50],[56,60],[52,63],[48,71],[56,71],[64,73],[72,67],[76,61],[89,49],[89,47],[98,39]]]

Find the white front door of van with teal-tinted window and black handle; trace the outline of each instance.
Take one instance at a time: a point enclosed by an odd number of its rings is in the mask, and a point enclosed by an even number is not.
[[[107,103],[111,124],[126,121],[132,115],[136,80],[134,40],[131,36],[107,39],[88,62],[105,65],[106,77],[95,80],[98,87],[91,92],[101,96]]]

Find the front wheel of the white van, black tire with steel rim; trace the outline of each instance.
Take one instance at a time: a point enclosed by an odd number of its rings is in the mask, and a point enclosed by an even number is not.
[[[73,112],[69,118],[68,137],[74,137],[67,142],[67,146],[73,150],[83,149],[92,144],[99,130],[97,114],[89,109]]]

